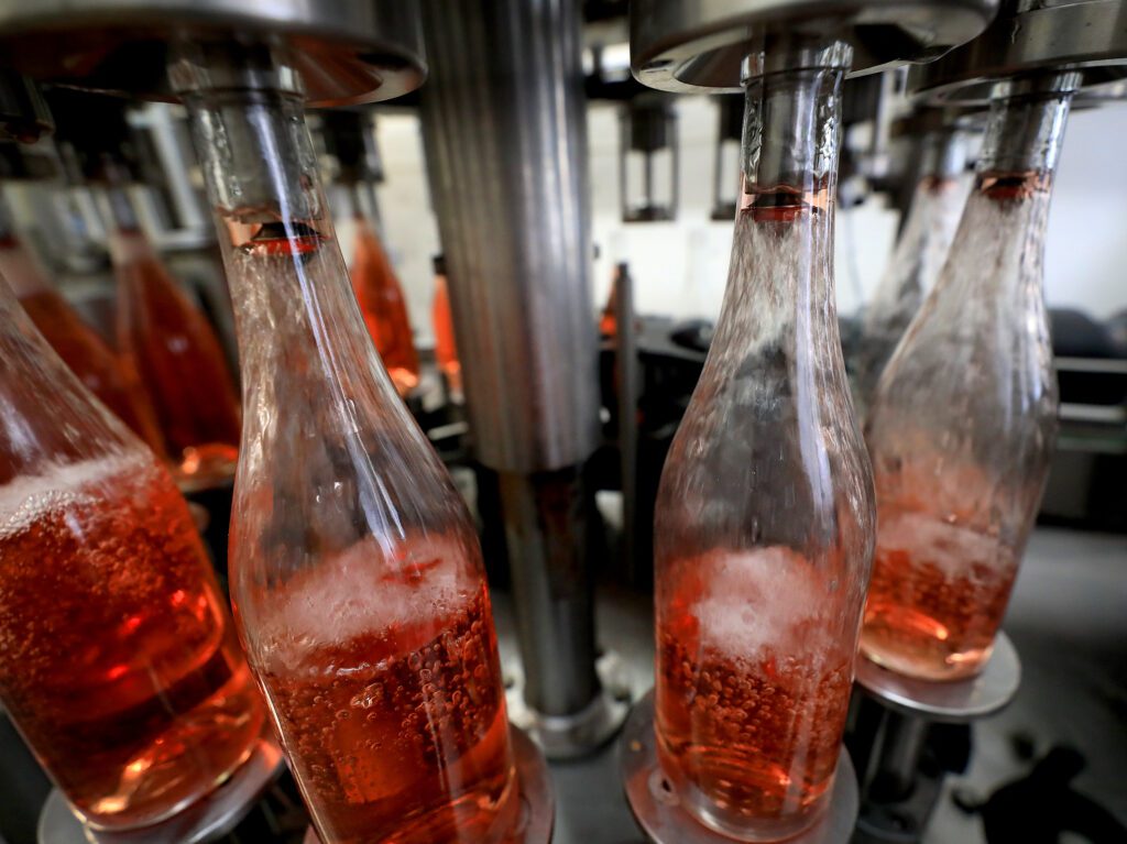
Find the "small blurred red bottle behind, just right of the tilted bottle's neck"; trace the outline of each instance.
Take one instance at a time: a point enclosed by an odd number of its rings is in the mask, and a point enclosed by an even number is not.
[[[415,349],[407,301],[391,260],[380,242],[372,186],[356,185],[356,251],[352,285],[367,332],[375,344],[391,382],[406,398],[419,383],[419,356]],[[365,205],[369,212],[363,208]]]

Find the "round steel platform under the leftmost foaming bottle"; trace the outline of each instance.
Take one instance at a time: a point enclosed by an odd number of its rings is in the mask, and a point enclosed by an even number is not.
[[[123,832],[86,825],[53,789],[39,814],[38,844],[204,844],[238,826],[284,767],[282,749],[273,739],[259,739],[247,761],[210,794],[159,824]]]

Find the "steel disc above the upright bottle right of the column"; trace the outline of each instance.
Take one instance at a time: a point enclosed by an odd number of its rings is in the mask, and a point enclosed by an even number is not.
[[[744,59],[786,33],[854,51],[853,70],[928,61],[978,35],[999,0],[632,0],[635,78],[702,94],[740,88]]]

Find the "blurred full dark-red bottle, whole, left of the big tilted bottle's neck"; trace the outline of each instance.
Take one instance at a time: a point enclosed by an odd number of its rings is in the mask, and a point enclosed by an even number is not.
[[[100,198],[117,276],[118,352],[141,375],[179,480],[229,478],[239,397],[219,338],[153,250],[125,187],[112,177]]]

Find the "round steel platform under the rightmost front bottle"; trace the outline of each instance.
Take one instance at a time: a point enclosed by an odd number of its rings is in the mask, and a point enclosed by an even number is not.
[[[955,682],[915,679],[858,657],[857,682],[889,709],[931,721],[958,723],[997,712],[1018,693],[1021,660],[1010,637],[1000,632],[982,674]]]

